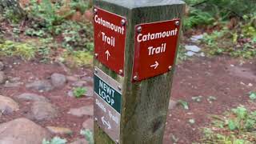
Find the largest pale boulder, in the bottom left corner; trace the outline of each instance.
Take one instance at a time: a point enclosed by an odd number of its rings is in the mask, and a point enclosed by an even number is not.
[[[42,144],[50,133],[26,118],[0,124],[0,144]]]

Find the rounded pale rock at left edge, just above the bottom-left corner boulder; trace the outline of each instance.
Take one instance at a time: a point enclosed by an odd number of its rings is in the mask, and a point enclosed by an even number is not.
[[[11,114],[18,110],[18,103],[12,98],[0,95],[0,114]]]

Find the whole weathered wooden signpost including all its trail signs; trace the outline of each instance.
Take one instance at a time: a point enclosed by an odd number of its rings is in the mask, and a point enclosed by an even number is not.
[[[184,2],[94,0],[94,143],[162,143]]]

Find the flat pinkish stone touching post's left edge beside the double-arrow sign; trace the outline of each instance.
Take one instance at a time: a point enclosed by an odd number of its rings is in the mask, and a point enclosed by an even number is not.
[[[77,109],[70,109],[68,114],[72,114],[77,117],[82,117],[84,115],[93,116],[94,115],[94,106],[90,105],[90,106],[82,106]]]

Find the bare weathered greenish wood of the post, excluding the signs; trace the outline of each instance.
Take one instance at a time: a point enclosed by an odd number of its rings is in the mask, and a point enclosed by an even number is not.
[[[94,66],[122,85],[120,138],[113,141],[94,121],[94,143],[160,144],[166,126],[174,66],[164,74],[133,82],[135,27],[175,18],[182,20],[185,4],[180,0],[94,0],[94,6],[121,15],[127,21],[124,76],[99,62],[97,55],[94,58]],[[178,49],[178,45],[174,48]]]

